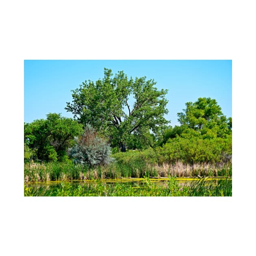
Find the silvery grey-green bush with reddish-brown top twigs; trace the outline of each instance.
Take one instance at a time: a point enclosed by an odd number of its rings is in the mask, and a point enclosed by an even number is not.
[[[99,137],[96,130],[89,124],[80,137],[75,137],[75,145],[69,148],[68,154],[74,158],[75,164],[107,165],[113,161],[110,157],[111,148],[106,141]]]

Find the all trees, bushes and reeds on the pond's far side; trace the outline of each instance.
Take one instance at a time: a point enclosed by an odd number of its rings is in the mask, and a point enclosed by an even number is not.
[[[198,98],[172,127],[167,91],[155,84],[104,69],[102,80],[72,91],[65,109],[74,119],[49,113],[24,123],[24,182],[231,177],[232,118],[216,100]]]

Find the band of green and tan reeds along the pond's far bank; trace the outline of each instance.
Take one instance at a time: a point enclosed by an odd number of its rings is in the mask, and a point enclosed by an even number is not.
[[[155,165],[143,161],[112,163],[106,166],[87,167],[69,162],[25,163],[24,182],[46,182],[57,180],[91,180],[106,178],[143,178],[151,177],[194,177],[232,176],[232,166],[228,163],[197,163],[193,165],[176,162],[175,164]]]

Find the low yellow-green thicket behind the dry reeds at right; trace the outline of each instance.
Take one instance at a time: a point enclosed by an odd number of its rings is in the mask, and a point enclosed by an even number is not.
[[[169,139],[162,147],[129,151],[113,155],[118,163],[144,162],[163,163],[228,163],[232,160],[232,137],[202,139],[202,137],[176,137]]]

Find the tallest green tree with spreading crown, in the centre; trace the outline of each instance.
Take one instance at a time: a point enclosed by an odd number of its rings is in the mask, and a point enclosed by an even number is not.
[[[137,141],[144,141],[144,146],[150,144],[152,135],[157,137],[168,123],[164,118],[167,90],[157,90],[154,85],[156,82],[146,77],[128,79],[123,71],[113,77],[111,69],[104,68],[103,79],[85,81],[72,90],[73,101],[67,102],[65,109],[80,123],[104,131],[111,145],[125,152],[129,141],[133,148],[137,146],[136,138],[143,138]]]

